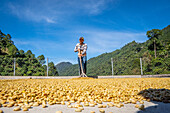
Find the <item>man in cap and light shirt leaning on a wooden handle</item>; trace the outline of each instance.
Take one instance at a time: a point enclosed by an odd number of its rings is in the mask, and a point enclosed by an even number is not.
[[[82,63],[82,68],[84,73],[86,74],[86,65],[87,65],[87,56],[86,56],[86,51],[87,51],[87,44],[84,43],[84,38],[80,37],[79,42],[77,43],[74,52],[78,52],[78,64],[79,64],[79,74],[80,76],[82,75],[81,71],[81,63]],[[80,62],[81,59],[81,62]]]

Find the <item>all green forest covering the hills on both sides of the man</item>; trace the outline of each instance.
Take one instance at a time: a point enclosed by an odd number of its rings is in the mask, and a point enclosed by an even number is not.
[[[169,74],[170,25],[162,30],[152,29],[146,35],[149,40],[144,43],[132,41],[121,49],[89,59],[87,75],[111,75],[111,58],[113,58],[115,75],[140,74],[139,58],[142,58],[144,74]],[[46,75],[47,66],[44,65],[44,55],[36,58],[31,50],[27,52],[18,50],[11,36],[1,31],[0,56],[0,75],[13,74],[14,57],[16,58],[16,75]],[[50,62],[49,75],[77,76],[79,75],[78,64],[62,62],[55,66],[53,62]]]

